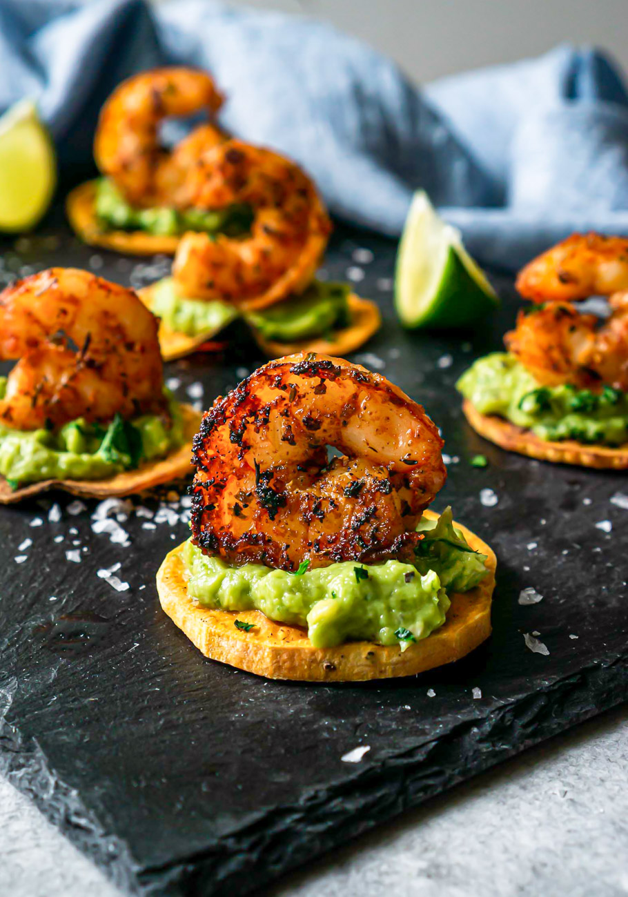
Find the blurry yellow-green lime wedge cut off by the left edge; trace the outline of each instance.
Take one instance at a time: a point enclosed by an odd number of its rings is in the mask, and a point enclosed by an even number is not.
[[[57,183],[55,148],[31,100],[0,117],[0,231],[28,231]]]

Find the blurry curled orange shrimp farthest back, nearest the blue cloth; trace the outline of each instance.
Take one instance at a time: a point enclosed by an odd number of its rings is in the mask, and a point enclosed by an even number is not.
[[[136,74],[113,91],[100,112],[96,163],[129,203],[186,208],[190,169],[224,137],[214,124],[200,125],[168,152],[159,143],[159,126],[164,118],[202,110],[212,117],[221,105],[222,96],[205,72],[170,67]]]

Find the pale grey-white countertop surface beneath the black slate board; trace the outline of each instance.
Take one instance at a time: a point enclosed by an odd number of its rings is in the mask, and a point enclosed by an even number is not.
[[[628,707],[380,827],[284,879],[272,897],[628,894]],[[0,780],[0,894],[120,897]]]

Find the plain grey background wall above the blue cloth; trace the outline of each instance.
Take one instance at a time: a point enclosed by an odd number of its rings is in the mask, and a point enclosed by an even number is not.
[[[563,41],[597,44],[628,69],[628,0],[247,0],[305,13],[367,40],[426,82],[536,56]]]

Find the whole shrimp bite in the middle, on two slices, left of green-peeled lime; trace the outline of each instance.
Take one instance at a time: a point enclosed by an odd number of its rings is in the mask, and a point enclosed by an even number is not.
[[[234,318],[244,318],[271,356],[353,352],[379,328],[374,302],[314,274],[330,222],[316,187],[277,152],[226,140],[204,152],[188,185],[196,207],[245,208],[244,234],[186,233],[172,276],[140,292],[161,318],[170,361],[194,352]]]

